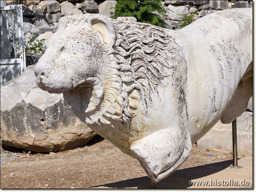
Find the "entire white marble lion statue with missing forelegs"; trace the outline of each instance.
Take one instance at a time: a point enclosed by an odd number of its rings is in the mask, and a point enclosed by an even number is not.
[[[138,159],[154,182],[252,96],[252,8],[214,12],[178,31],[71,15],[44,46],[36,84],[63,93],[81,121]]]

